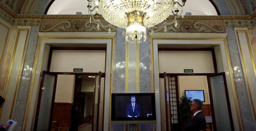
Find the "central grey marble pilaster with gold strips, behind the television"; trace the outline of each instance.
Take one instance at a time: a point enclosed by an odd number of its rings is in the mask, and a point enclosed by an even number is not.
[[[126,42],[123,29],[117,29],[115,87],[113,93],[147,93],[150,91],[149,36],[140,44]],[[111,131],[129,129],[125,124],[112,124]],[[140,130],[153,130],[154,124],[140,124]]]

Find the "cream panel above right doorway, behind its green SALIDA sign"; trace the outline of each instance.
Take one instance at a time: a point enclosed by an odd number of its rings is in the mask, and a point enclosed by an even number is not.
[[[211,51],[159,51],[158,56],[160,73],[214,73]]]

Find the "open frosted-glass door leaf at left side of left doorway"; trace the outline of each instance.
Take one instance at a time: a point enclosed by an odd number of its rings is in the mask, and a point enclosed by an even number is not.
[[[57,75],[43,71],[39,88],[34,131],[50,131]]]

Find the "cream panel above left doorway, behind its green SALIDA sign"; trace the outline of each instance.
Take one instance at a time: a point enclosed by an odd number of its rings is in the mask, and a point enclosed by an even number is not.
[[[53,50],[50,72],[105,72],[105,50]]]

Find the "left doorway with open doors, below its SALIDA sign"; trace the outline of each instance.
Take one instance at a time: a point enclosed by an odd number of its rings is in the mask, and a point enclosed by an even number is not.
[[[42,89],[43,92],[47,92],[47,93],[40,93],[40,94],[42,96],[42,99],[44,99],[44,97],[49,97],[52,94],[52,97],[48,98],[48,99],[51,99],[52,102],[47,102],[48,106],[47,105],[42,106],[42,104],[45,103],[43,101],[38,102],[39,108],[37,109],[38,113],[36,115],[36,118],[38,118],[39,121],[38,123],[35,123],[34,130],[38,130],[38,131],[48,131],[48,130],[58,131],[58,130],[65,130],[65,129],[68,130],[69,123],[70,123],[70,110],[71,110],[72,104],[76,104],[78,106],[79,131],[84,131],[88,129],[92,130],[93,103],[94,103],[93,99],[95,99],[95,97],[93,96],[95,96],[94,87],[96,82],[96,79],[94,77],[99,76],[99,74],[97,73],[98,74],[97,75],[95,73],[87,73],[87,74],[82,73],[83,75],[72,75],[66,72],[58,75],[55,73],[47,73],[45,71],[44,71],[44,74],[42,76],[43,81],[42,81],[42,86],[40,86],[41,87],[40,89]],[[50,76],[49,74],[52,74],[52,76]],[[95,75],[92,75],[92,74],[95,74]],[[56,77],[56,79],[54,76]],[[58,79],[57,79],[57,76],[59,76]],[[52,78],[52,82],[50,82],[51,78]],[[78,79],[76,79],[73,83],[73,81],[69,81],[71,78],[74,78],[74,79],[78,78]],[[46,82],[44,80],[46,80]],[[101,84],[98,84],[102,87],[102,90],[100,90],[99,92],[100,94],[103,95],[104,93],[102,92],[104,91],[104,77],[101,78],[101,82],[102,82]],[[52,86],[48,86],[45,84],[48,84],[48,85],[51,84]],[[71,88],[72,91],[70,90],[66,91],[70,87],[69,84],[74,86],[73,88]],[[67,88],[65,87],[65,85],[67,85]],[[67,92],[66,94],[64,90]],[[69,96],[73,97],[73,102],[59,102],[60,99],[65,99],[66,97],[69,97]],[[103,96],[99,96],[99,97],[100,97],[99,100],[101,103],[99,106],[100,108],[96,107],[94,109],[98,110],[96,114],[100,114],[100,116],[97,116],[96,118],[100,117],[101,119],[103,119],[102,118],[103,105],[104,105],[104,102],[102,101]],[[41,112],[46,112],[46,111],[48,112],[48,114],[42,115]],[[42,121],[43,123],[42,122],[40,123],[40,121]],[[102,128],[102,121],[100,121],[99,123],[100,123],[98,124],[100,125],[99,127]],[[48,125],[48,126],[45,127],[45,125]]]

